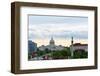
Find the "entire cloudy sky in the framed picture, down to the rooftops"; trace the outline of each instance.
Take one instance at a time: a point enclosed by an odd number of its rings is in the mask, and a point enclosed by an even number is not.
[[[74,42],[87,43],[88,17],[29,15],[28,19],[28,39],[38,46],[48,45],[51,37],[56,45],[70,45],[72,36]]]

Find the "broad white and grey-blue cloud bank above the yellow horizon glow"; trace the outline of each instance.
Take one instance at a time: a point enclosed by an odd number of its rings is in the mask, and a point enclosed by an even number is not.
[[[88,27],[76,24],[38,24],[29,26],[29,38],[87,38]]]

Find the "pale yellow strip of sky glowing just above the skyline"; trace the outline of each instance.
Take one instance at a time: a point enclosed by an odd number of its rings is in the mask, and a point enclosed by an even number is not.
[[[50,39],[35,39],[35,40],[32,40],[33,42],[37,43],[37,46],[41,46],[41,45],[48,45],[49,42],[50,42]],[[55,40],[55,45],[62,45],[62,46],[65,46],[65,47],[69,47],[71,45],[71,39],[63,39],[63,40]],[[85,39],[75,39],[74,40],[74,43],[81,43],[81,44],[88,44],[88,40],[85,40]]]

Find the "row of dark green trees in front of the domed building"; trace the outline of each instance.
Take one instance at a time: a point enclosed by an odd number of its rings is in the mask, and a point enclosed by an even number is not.
[[[37,51],[37,56],[47,55],[50,56],[52,59],[77,59],[77,58],[87,58],[88,52],[82,49],[78,49],[74,51],[73,57],[71,57],[71,50],[69,47],[64,48],[63,50],[59,51]]]

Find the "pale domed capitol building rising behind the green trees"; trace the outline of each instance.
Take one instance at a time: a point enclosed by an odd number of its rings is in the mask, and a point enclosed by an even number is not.
[[[42,45],[39,47],[39,50],[44,51],[44,50],[51,50],[51,51],[60,51],[63,50],[64,46],[62,45],[55,45],[55,41],[53,40],[53,37],[51,38],[49,45],[45,46]]]

